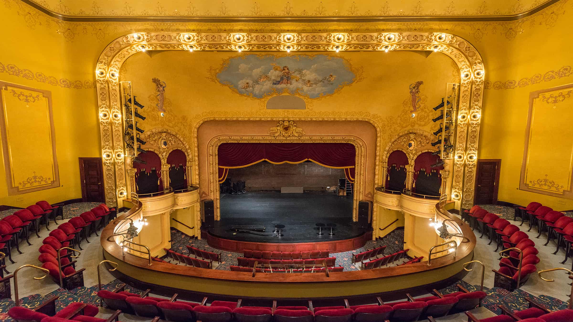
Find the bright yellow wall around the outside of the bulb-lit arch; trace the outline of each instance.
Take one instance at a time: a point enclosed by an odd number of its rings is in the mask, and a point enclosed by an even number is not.
[[[147,30],[313,30],[311,23],[304,26],[262,25],[245,26],[201,23],[64,23],[47,18],[17,0],[7,0],[0,6],[5,33],[3,42],[10,44],[0,52],[0,62],[6,66],[14,64],[21,69],[41,72],[57,80],[93,81],[94,67],[105,45],[124,34]],[[501,201],[526,204],[536,200],[558,210],[573,209],[573,201],[517,190],[525,123],[527,120],[529,92],[543,88],[572,83],[571,73],[562,73],[539,83],[513,89],[496,89],[499,82],[520,81],[535,74],[545,74],[571,65],[570,21],[573,19],[573,0],[563,0],[541,13],[516,22],[504,23],[360,23],[361,30],[421,30],[445,31],[466,38],[480,52],[486,66],[486,89],[482,110],[482,125],[478,158],[502,159],[499,199]],[[355,30],[352,23],[323,25],[320,30]],[[344,53],[345,55],[347,53]],[[161,55],[161,54],[160,54]],[[350,55],[350,53],[349,53]],[[352,53],[351,55],[360,55]],[[214,57],[214,56],[213,56]],[[359,57],[359,56],[358,56]],[[356,58],[359,60],[360,58]],[[211,64],[207,64],[211,65]],[[370,73],[365,62],[365,73]],[[205,68],[199,70],[204,72]],[[367,74],[368,76],[368,74]],[[79,156],[99,156],[100,138],[97,123],[95,89],[70,89],[50,85],[22,76],[14,76],[3,70],[0,80],[48,89],[54,102],[54,123],[56,125],[57,155],[60,180],[63,187],[7,197],[0,185],[0,203],[27,206],[38,199],[50,202],[79,198]],[[207,83],[205,78],[199,78]],[[211,84],[211,83],[209,83]],[[507,83],[506,83],[507,84]],[[214,83],[211,85],[215,85]],[[366,77],[358,83],[363,95],[372,96],[372,89],[383,87],[384,79]],[[502,84],[503,85],[503,84]],[[225,91],[220,85],[218,91]],[[136,89],[137,90],[137,89]],[[336,97],[336,96],[333,96]],[[371,101],[380,100],[372,96]],[[243,107],[253,101],[242,101]],[[209,100],[206,101],[209,103]],[[245,105],[246,104],[246,105]],[[372,104],[374,106],[374,104]],[[379,107],[379,105],[375,105]],[[205,107],[210,108],[210,107]],[[3,171],[3,170],[0,170]],[[3,173],[0,173],[3,177]],[[3,178],[1,178],[3,180]],[[17,201],[23,198],[23,201]]]

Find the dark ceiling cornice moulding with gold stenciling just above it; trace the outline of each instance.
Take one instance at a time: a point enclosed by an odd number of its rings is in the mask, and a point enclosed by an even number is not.
[[[41,13],[48,15],[49,17],[58,19],[64,22],[138,22],[138,23],[156,23],[156,22],[199,22],[199,23],[229,23],[229,22],[240,22],[240,23],[371,23],[371,22],[510,22],[517,21],[523,18],[527,18],[533,14],[538,13],[547,7],[554,5],[562,0],[548,0],[539,6],[533,6],[529,10],[522,11],[520,13],[501,14],[500,11],[495,11],[493,14],[485,14],[483,8],[478,8],[475,14],[469,14],[468,10],[461,11],[456,14],[456,10],[453,7],[453,2],[450,6],[446,7],[442,13],[438,13],[436,10],[431,10],[425,12],[421,3],[410,12],[405,13],[403,10],[397,11],[396,14],[391,14],[392,10],[389,9],[388,5],[382,6],[380,10],[376,13],[367,10],[360,13],[358,7],[353,4],[346,10],[346,12],[340,12],[339,10],[327,9],[322,5],[322,3],[313,12],[308,10],[302,10],[300,13],[295,13],[289,2],[282,10],[278,12],[262,13],[259,9],[257,10],[257,5],[253,6],[248,14],[245,13],[230,13],[224,3],[215,14],[210,10],[205,11],[201,14],[197,9],[194,9],[193,4],[187,8],[187,15],[175,10],[172,14],[169,14],[158,2],[158,8],[156,8],[154,14],[150,14],[147,11],[142,11],[141,13],[135,13],[135,10],[131,7],[124,10],[121,14],[115,11],[108,13],[107,15],[99,9],[96,5],[97,10],[92,10],[93,15],[87,14],[71,14],[70,10],[65,6],[62,11],[65,13],[58,13],[54,10],[50,10],[45,6],[39,5],[32,0],[19,0],[26,5],[33,7],[34,9],[40,11]],[[126,6],[129,6],[126,2]],[[92,8],[93,9],[93,8]],[[519,9],[519,8],[518,8]],[[511,12],[512,10],[510,10]]]

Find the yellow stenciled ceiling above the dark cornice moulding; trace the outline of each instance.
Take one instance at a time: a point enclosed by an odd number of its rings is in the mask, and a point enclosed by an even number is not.
[[[553,0],[554,1],[554,0]],[[60,15],[181,16],[181,17],[310,17],[516,15],[552,0],[26,0]]]

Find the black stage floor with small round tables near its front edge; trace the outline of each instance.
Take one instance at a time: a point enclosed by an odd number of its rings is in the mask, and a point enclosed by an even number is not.
[[[273,221],[279,221],[285,228],[282,237],[274,232]],[[316,223],[336,223],[329,236],[330,229],[323,229],[323,235],[317,235]],[[261,225],[265,236],[236,233],[230,231],[233,225]],[[241,195],[221,195],[221,220],[215,221],[208,229],[211,235],[250,242],[319,242],[350,239],[362,235],[352,221],[352,196],[339,197],[334,193],[281,194],[278,192],[248,192]]]

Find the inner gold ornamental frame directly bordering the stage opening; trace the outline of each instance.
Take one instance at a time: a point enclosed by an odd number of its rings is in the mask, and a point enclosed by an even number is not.
[[[363,173],[366,167],[366,159],[364,156],[364,142],[355,136],[336,136],[336,135],[308,135],[304,138],[272,138],[270,136],[260,135],[241,135],[241,136],[215,136],[209,142],[207,152],[209,155],[209,189],[213,196],[215,206],[215,219],[221,219],[219,212],[219,173],[218,173],[218,150],[219,146],[223,143],[350,143],[356,149],[355,157],[355,194],[353,194],[353,207],[352,207],[352,220],[358,221],[358,201],[364,198],[364,178]],[[376,172],[375,172],[376,176]],[[375,178],[376,180],[376,178]],[[204,189],[204,188],[202,188]],[[372,227],[376,225],[376,216],[372,216]],[[198,224],[201,224],[201,216],[198,217]]]

